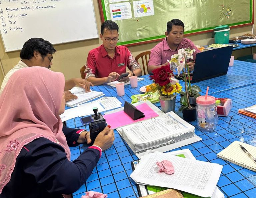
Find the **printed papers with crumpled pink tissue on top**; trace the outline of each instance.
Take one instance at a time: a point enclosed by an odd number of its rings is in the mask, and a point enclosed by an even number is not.
[[[216,188],[223,166],[185,157],[170,153],[148,153],[142,157],[130,177],[140,185],[173,188],[202,197],[224,197]],[[156,162],[162,160],[172,162],[174,174],[158,173]]]

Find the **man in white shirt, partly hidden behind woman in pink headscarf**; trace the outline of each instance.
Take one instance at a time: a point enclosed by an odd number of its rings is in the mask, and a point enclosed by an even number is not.
[[[6,74],[2,82],[0,94],[3,92],[4,87],[6,86],[11,75],[17,70],[33,66],[46,67],[50,69],[52,65],[53,54],[55,52],[56,50],[54,49],[53,45],[49,41],[46,41],[42,38],[31,38],[26,41],[20,52],[21,60]],[[75,86],[82,87],[85,88],[86,91],[90,91],[90,86],[92,86],[92,84],[87,80],[79,78],[66,80],[64,88],[66,101],[77,98],[75,95],[68,91]]]

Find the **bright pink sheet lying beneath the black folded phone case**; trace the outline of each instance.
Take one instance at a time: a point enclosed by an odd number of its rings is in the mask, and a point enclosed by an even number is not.
[[[150,119],[152,117],[158,116],[158,114],[152,108],[150,108],[150,106],[147,103],[140,104],[136,106],[136,108],[139,109],[141,112],[143,112],[145,117],[137,120],[133,120],[123,110],[115,113],[103,115],[103,117],[106,119],[107,124],[111,126],[111,129],[116,129],[128,124],[132,124],[134,122],[139,122],[142,120],[146,120],[146,119]]]

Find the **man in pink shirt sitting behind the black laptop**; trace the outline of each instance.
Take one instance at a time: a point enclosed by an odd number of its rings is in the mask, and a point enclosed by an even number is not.
[[[167,65],[167,60],[170,60],[172,55],[177,54],[179,49],[188,47],[196,50],[193,53],[194,58],[190,59],[188,63],[189,70],[192,71],[195,66],[196,54],[200,51],[191,40],[183,38],[184,23],[179,19],[168,21],[165,35],[166,38],[151,50],[148,73],[152,73],[154,69]]]

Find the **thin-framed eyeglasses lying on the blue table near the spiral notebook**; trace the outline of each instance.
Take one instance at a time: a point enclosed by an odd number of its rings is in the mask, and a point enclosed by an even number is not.
[[[236,133],[236,134],[242,134],[243,132],[247,132],[246,131],[246,127],[243,123],[241,122],[233,122],[231,123],[231,120],[232,120],[233,116],[231,116],[231,119],[228,123],[228,128],[229,128],[229,131],[232,132],[232,133]],[[256,123],[252,123],[249,128],[248,128],[248,132],[253,134],[253,135],[256,135]]]

